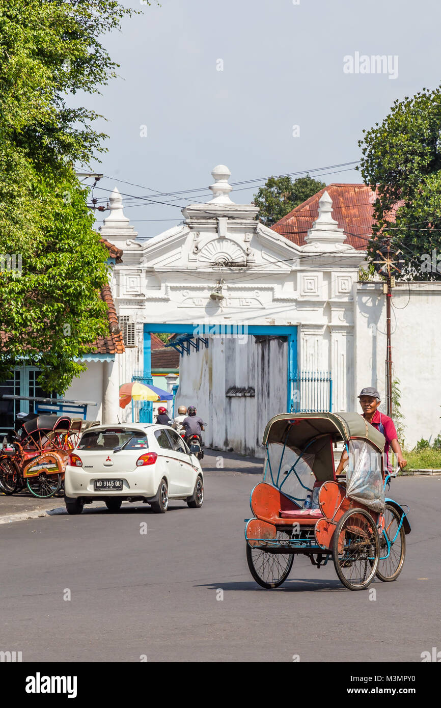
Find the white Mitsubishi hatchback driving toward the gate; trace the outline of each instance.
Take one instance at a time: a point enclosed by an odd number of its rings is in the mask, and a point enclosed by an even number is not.
[[[204,477],[199,460],[173,428],[96,426],[83,433],[70,453],[64,495],[69,514],[81,514],[84,504],[97,500],[110,511],[118,511],[122,501],[142,501],[164,513],[169,499],[202,506]]]

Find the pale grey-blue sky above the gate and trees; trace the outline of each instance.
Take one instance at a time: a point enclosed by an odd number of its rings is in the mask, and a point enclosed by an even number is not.
[[[362,130],[396,98],[440,84],[440,0],[121,4],[142,14],[103,38],[119,76],[76,100],[107,118],[96,123],[109,138],[91,166],[104,174],[94,196],[105,203],[118,186],[139,238],[209,200],[217,164],[230,183],[248,181],[231,192],[237,203],[270,175],[362,182],[346,165],[360,159]],[[105,212],[96,213],[98,226]]]

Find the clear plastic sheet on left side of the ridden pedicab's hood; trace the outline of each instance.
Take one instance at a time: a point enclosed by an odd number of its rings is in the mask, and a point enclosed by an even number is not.
[[[315,455],[302,455],[297,447],[270,442],[263,481],[277,487],[299,506],[303,506],[314,486],[314,458]]]

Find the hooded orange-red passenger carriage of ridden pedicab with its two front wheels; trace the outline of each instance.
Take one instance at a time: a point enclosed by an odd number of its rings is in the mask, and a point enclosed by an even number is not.
[[[348,495],[345,475],[336,479],[333,446],[344,442],[349,451],[351,441],[364,443],[372,453],[372,463],[368,458],[372,470],[365,469],[365,479],[374,476],[375,485],[373,494],[372,489],[365,494],[366,503],[364,492],[362,501],[358,493],[355,499]],[[370,585],[384,525],[384,442],[384,435],[357,413],[286,413],[271,418],[263,435],[267,450],[263,482],[251,492],[254,518],[247,521],[245,531],[248,567],[261,586],[280,586],[296,554],[307,555],[317,567],[332,557],[340,581],[351,590]],[[272,443],[282,446],[277,472],[271,467]],[[282,468],[287,449],[297,457],[291,469]],[[312,486],[303,484],[295,469],[299,460],[306,469],[308,455],[309,472],[315,478]],[[293,472],[303,498],[286,493]],[[318,508],[302,508],[307,494],[316,496],[317,491]]]

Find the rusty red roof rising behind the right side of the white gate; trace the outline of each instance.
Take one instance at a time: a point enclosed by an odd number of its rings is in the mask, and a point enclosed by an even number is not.
[[[332,199],[332,216],[338,221],[338,227],[345,231],[345,243],[355,249],[366,249],[372,234],[375,193],[365,184],[330,184],[295,207],[272,229],[297,246],[303,246],[308,229],[319,216],[319,199],[325,191]]]

